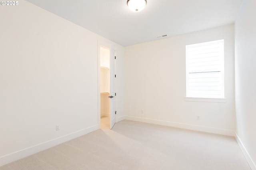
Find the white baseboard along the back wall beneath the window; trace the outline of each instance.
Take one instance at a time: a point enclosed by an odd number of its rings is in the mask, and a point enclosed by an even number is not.
[[[196,131],[200,131],[200,132],[208,132],[208,133],[213,133],[213,134],[222,134],[222,135],[226,135],[226,136],[235,136],[235,132],[233,130],[211,128],[211,127],[206,127],[206,126],[196,126],[196,125],[192,125],[192,124],[168,122],[168,121],[164,121],[164,120],[139,118],[139,117],[133,117],[133,116],[122,116],[122,117],[125,117],[124,119],[126,119],[126,120],[133,120],[133,121],[137,121],[137,122],[145,122],[145,123],[158,124],[158,125],[163,125],[163,126],[171,126],[174,128],[196,130]]]

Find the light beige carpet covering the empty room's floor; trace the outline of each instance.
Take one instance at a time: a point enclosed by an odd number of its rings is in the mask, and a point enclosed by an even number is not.
[[[122,120],[0,170],[250,170],[234,137]]]

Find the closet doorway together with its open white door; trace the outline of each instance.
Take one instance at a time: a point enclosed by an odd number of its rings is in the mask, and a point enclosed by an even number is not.
[[[116,123],[116,51],[98,42],[98,128]]]

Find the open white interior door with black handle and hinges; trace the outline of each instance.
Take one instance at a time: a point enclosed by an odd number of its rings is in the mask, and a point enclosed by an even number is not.
[[[110,54],[110,129],[116,123],[116,52]]]

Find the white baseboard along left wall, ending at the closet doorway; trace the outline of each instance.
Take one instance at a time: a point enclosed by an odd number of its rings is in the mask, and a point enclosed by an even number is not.
[[[26,149],[20,150],[18,152],[14,152],[12,154],[2,156],[2,157],[0,157],[0,166],[3,166],[3,165],[8,164],[10,162],[14,162],[14,161],[19,160],[21,158],[25,158],[26,156],[30,156],[30,155],[35,154],[37,152],[40,152],[42,150],[46,150],[48,148],[51,148],[51,147],[56,146],[58,144],[61,144],[63,142],[67,142],[69,140],[72,140],[74,138],[82,136],[84,134],[88,134],[88,133],[93,132],[94,130],[97,130],[97,129],[98,129],[98,125],[94,125],[94,126],[91,126],[89,128],[85,128],[83,130],[79,130],[77,132],[67,134],[67,135],[62,136],[60,138],[49,140],[47,142],[32,146],[30,148],[26,148]]]

